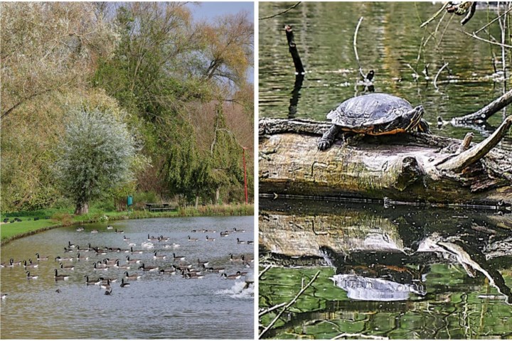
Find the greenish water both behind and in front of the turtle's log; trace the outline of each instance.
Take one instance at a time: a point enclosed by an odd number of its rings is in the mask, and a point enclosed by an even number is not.
[[[294,4],[261,2],[259,16]],[[474,141],[485,139],[510,109],[483,126],[436,123],[437,117],[447,122],[476,112],[503,94],[506,84],[494,69],[502,69],[501,48],[462,32],[478,30],[496,13],[479,5],[464,27],[462,17],[447,15],[420,28],[440,6],[427,1],[302,2],[260,20],[260,117],[324,121],[343,100],[368,92],[358,85],[353,50],[363,16],[358,55],[363,73],[375,71],[375,92],[422,104],[433,134],[462,139],[472,131]],[[298,92],[285,24],[293,27],[306,69]],[[497,23],[481,33],[489,35],[501,38]],[[422,72],[427,65],[428,79]],[[511,136],[501,148],[512,150]],[[259,208],[260,271],[274,266],[259,282],[260,332],[282,308],[265,310],[292,301],[319,271],[263,338],[512,337],[509,212],[283,196],[260,197]]]

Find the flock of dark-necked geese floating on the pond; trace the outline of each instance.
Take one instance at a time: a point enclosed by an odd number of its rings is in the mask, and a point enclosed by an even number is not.
[[[107,230],[113,229],[111,225],[107,227]],[[76,230],[77,232],[84,232],[85,228],[78,227]],[[97,229],[90,231],[90,233],[97,232]],[[23,268],[23,271],[26,272],[27,280],[33,281],[40,278],[40,275],[36,274],[40,262],[53,261],[55,262],[54,280],[68,281],[70,274],[73,274],[75,270],[75,265],[79,261],[87,261],[87,264],[90,265],[90,274],[84,275],[85,284],[87,286],[100,286],[100,288],[105,289],[105,295],[112,294],[114,283],[119,283],[119,288],[128,288],[130,286],[129,281],[140,280],[148,272],[160,274],[161,276],[181,276],[188,280],[201,279],[205,276],[219,276],[219,278],[227,280],[236,280],[247,275],[247,268],[253,267],[252,247],[247,249],[247,254],[230,253],[225,255],[225,259],[227,259],[225,265],[228,265],[227,267],[235,272],[234,274],[227,274],[226,266],[210,266],[210,261],[208,260],[189,259],[191,257],[176,254],[176,249],[186,250],[186,244],[215,242],[217,238],[209,237],[217,233],[215,230],[193,229],[191,230],[193,237],[188,235],[186,239],[182,240],[164,237],[163,234],[156,237],[148,234],[146,240],[138,241],[139,244],[126,237],[124,231],[115,229],[112,232],[123,234],[122,240],[127,244],[126,248],[92,246],[91,243],[88,243],[87,247],[80,247],[80,245],[75,245],[69,241],[68,245],[63,247],[63,254],[41,256],[36,253],[34,254],[35,261],[32,259],[28,259],[28,261],[15,261],[11,258],[8,263],[2,263],[0,266],[1,268]],[[245,230],[234,227],[230,231],[220,232],[219,238],[238,234],[238,232],[245,232]],[[199,233],[203,233],[206,237],[196,237]],[[181,244],[178,244],[178,242]],[[234,238],[233,242],[235,242]],[[236,238],[236,243],[254,244],[250,240],[241,240],[239,237]],[[139,246],[140,248],[137,248]],[[172,249],[172,252],[169,249]],[[253,281],[249,279],[245,278],[244,288],[254,285]],[[56,292],[60,293],[60,289],[57,289]],[[6,293],[1,293],[2,300],[6,297]]]

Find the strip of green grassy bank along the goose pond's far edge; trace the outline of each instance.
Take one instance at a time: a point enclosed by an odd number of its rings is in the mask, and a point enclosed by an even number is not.
[[[85,224],[88,222],[109,222],[112,220],[142,219],[154,217],[213,217],[231,215],[254,215],[254,205],[211,205],[201,206],[196,210],[193,207],[178,208],[169,212],[149,212],[135,210],[131,212],[102,211],[91,209],[87,215],[73,215],[73,210],[40,210],[34,212],[10,212],[2,213],[0,220],[5,217],[21,222],[8,222],[0,225],[1,244],[11,240],[25,237],[37,232],[53,229],[60,226],[73,224]],[[38,217],[38,220],[34,220]]]

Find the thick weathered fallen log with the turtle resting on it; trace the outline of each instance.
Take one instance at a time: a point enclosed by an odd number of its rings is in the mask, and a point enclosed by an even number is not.
[[[331,124],[260,119],[260,193],[509,206],[512,153],[496,144],[511,125],[508,117],[467,150],[467,141],[412,133],[365,136],[356,146],[342,138],[318,151]]]

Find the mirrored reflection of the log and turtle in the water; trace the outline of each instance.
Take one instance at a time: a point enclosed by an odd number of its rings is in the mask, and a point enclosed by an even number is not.
[[[333,266],[334,284],[348,298],[363,301],[425,296],[431,264],[459,264],[470,277],[484,275],[499,297],[512,303],[511,288],[498,271],[503,266],[498,259],[512,256],[512,237],[486,215],[471,212],[469,219],[443,212],[439,224],[395,210],[386,216],[378,209],[324,205],[315,213],[299,207],[292,215],[277,212],[279,203],[272,205],[274,210],[265,210],[264,202],[260,212],[260,245],[271,252],[262,263]]]

